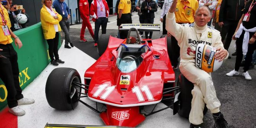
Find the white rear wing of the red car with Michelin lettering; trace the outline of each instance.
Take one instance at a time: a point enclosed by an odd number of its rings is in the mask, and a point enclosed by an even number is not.
[[[138,31],[159,31],[160,24],[121,24],[119,31],[129,31],[130,28],[136,28]],[[135,31],[135,30],[131,30]]]

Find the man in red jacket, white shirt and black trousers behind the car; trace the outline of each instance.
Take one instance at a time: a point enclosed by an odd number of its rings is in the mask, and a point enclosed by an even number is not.
[[[102,30],[101,34],[106,34],[109,17],[109,6],[106,0],[93,0],[90,7],[90,15],[92,16],[92,21],[95,22],[94,47],[96,47],[99,39],[100,26]]]

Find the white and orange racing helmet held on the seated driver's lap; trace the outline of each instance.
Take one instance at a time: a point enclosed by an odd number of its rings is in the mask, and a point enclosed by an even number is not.
[[[206,71],[207,73],[214,72],[220,68],[222,62],[215,61],[215,53],[217,48],[206,44],[198,44],[196,46],[196,61],[195,66]]]

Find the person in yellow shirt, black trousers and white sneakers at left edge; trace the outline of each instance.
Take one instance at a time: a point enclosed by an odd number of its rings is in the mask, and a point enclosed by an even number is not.
[[[13,42],[11,37],[14,38],[15,45],[18,45],[19,49],[22,47],[22,42],[10,29],[11,22],[8,10],[10,10],[8,2],[4,6],[0,3],[0,79],[2,79],[8,91],[7,103],[10,108],[9,112],[13,113],[13,115],[21,116],[26,112],[19,108],[18,105],[32,104],[35,100],[24,98],[22,89],[19,86],[18,55],[11,44]]]

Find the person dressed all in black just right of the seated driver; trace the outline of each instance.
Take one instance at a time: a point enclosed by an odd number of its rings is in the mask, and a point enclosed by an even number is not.
[[[232,36],[237,27],[238,21],[241,18],[243,8],[245,7],[244,0],[223,0],[220,6],[219,26],[222,27],[220,36],[224,44],[224,48],[228,50],[232,41]],[[227,38],[224,42],[224,39]],[[228,56],[228,58],[231,58]]]

